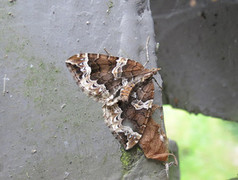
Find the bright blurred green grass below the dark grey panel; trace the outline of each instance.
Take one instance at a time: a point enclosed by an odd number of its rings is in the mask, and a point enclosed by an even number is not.
[[[230,179],[238,174],[238,123],[164,106],[168,137],[177,141],[181,179]]]

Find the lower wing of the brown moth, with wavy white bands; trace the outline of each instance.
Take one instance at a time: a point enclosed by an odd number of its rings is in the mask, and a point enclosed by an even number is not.
[[[113,106],[103,106],[106,125],[126,150],[139,142],[151,116],[150,105],[136,109],[132,102],[139,100],[146,104],[146,102],[153,102],[153,98],[154,84],[151,79],[148,79],[133,88],[128,102],[119,101]],[[124,125],[124,122],[129,122],[132,127]]]

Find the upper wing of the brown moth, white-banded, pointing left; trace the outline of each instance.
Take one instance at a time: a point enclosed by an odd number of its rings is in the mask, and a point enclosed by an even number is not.
[[[66,60],[77,84],[89,96],[107,105],[128,101],[135,84],[152,77],[158,69],[145,69],[140,63],[103,54],[83,53]]]

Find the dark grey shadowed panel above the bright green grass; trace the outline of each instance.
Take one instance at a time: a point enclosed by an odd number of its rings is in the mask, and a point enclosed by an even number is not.
[[[238,121],[238,1],[151,4],[164,103]]]

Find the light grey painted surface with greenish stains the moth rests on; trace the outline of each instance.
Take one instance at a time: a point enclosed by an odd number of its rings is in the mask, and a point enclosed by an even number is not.
[[[146,160],[138,148],[121,149],[101,104],[79,90],[64,63],[75,53],[104,53],[104,47],[143,63],[150,36],[148,67],[155,67],[148,2],[0,4],[0,76],[7,78],[0,96],[0,179],[165,179],[163,164]],[[160,75],[156,79],[162,83]],[[159,88],[155,103],[162,105]],[[178,168],[173,172],[171,179],[179,179]]]

